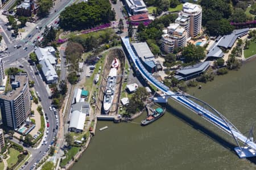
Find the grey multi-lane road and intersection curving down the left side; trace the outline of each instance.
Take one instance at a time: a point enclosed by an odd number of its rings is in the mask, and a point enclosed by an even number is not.
[[[13,1],[13,0],[10,0]],[[57,0],[55,1],[55,6],[51,9],[51,12],[47,18],[44,18],[42,20],[39,20],[36,25],[38,27],[44,28],[46,25],[49,25],[53,23],[57,17],[59,16],[59,13],[64,10],[64,8],[68,5],[73,3],[73,1],[68,0]],[[7,6],[7,5],[6,5]],[[5,7],[6,7],[5,6]],[[57,12],[54,12],[54,11]],[[2,15],[2,14],[1,14]],[[41,97],[41,104],[44,110],[44,113],[47,113],[48,120],[49,120],[49,134],[47,135],[47,145],[41,145],[38,146],[36,150],[33,150],[33,148],[28,148],[31,153],[32,157],[28,161],[28,164],[26,165],[25,169],[30,169],[34,163],[36,163],[36,160],[40,160],[43,158],[43,153],[47,150],[48,146],[50,145],[52,139],[55,138],[55,133],[53,132],[53,128],[56,128],[56,118],[55,114],[52,111],[49,111],[49,107],[51,106],[51,100],[48,99],[48,92],[46,90],[46,84],[43,82],[42,78],[40,78],[39,75],[35,75],[35,66],[30,66],[30,64],[27,62],[28,54],[31,53],[34,50],[34,44],[32,40],[35,40],[38,36],[42,36],[42,32],[39,31],[39,29],[32,29],[32,31],[29,33],[32,35],[30,39],[28,37],[24,37],[23,40],[15,40],[11,37],[10,31],[6,31],[7,27],[3,24],[3,21],[1,21],[1,26],[3,31],[1,32],[1,35],[3,36],[3,40],[5,40],[8,52],[5,54],[1,54],[1,57],[4,62],[4,67],[18,67],[19,65],[23,65],[23,70],[27,71],[28,77],[30,80],[33,80],[35,82],[35,91],[39,92],[39,95]],[[27,42],[26,42],[27,40]],[[14,48],[15,45],[22,45],[22,48],[16,49]],[[27,47],[27,50],[24,50],[23,48]],[[64,51],[60,50],[60,55],[64,56]],[[64,68],[64,62],[65,58],[61,59],[61,67]],[[65,79],[65,71],[62,71],[65,69],[61,69],[61,78]],[[46,137],[46,134],[44,134],[44,137]],[[18,141],[14,141],[18,142]]]

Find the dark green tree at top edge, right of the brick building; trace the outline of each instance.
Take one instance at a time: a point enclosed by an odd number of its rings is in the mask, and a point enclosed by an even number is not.
[[[49,15],[49,10],[53,7],[52,0],[39,0],[38,2],[38,16],[44,18]]]

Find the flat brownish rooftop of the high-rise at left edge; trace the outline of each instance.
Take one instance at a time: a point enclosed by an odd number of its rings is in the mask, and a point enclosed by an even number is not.
[[[28,83],[28,78],[26,73],[20,73],[15,75],[15,82],[19,82],[20,86],[15,90],[7,92],[7,94],[0,95],[1,99],[5,100],[15,100],[16,97],[20,95],[20,92],[23,91],[24,86]]]

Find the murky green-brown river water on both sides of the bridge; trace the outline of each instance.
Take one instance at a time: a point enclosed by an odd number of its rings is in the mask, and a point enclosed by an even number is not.
[[[247,135],[256,117],[256,59],[201,85],[188,93]],[[72,169],[256,169],[255,158],[238,158],[232,137],[175,101],[167,108],[162,118],[144,127],[98,121],[96,136]],[[109,128],[98,131],[103,126]]]

